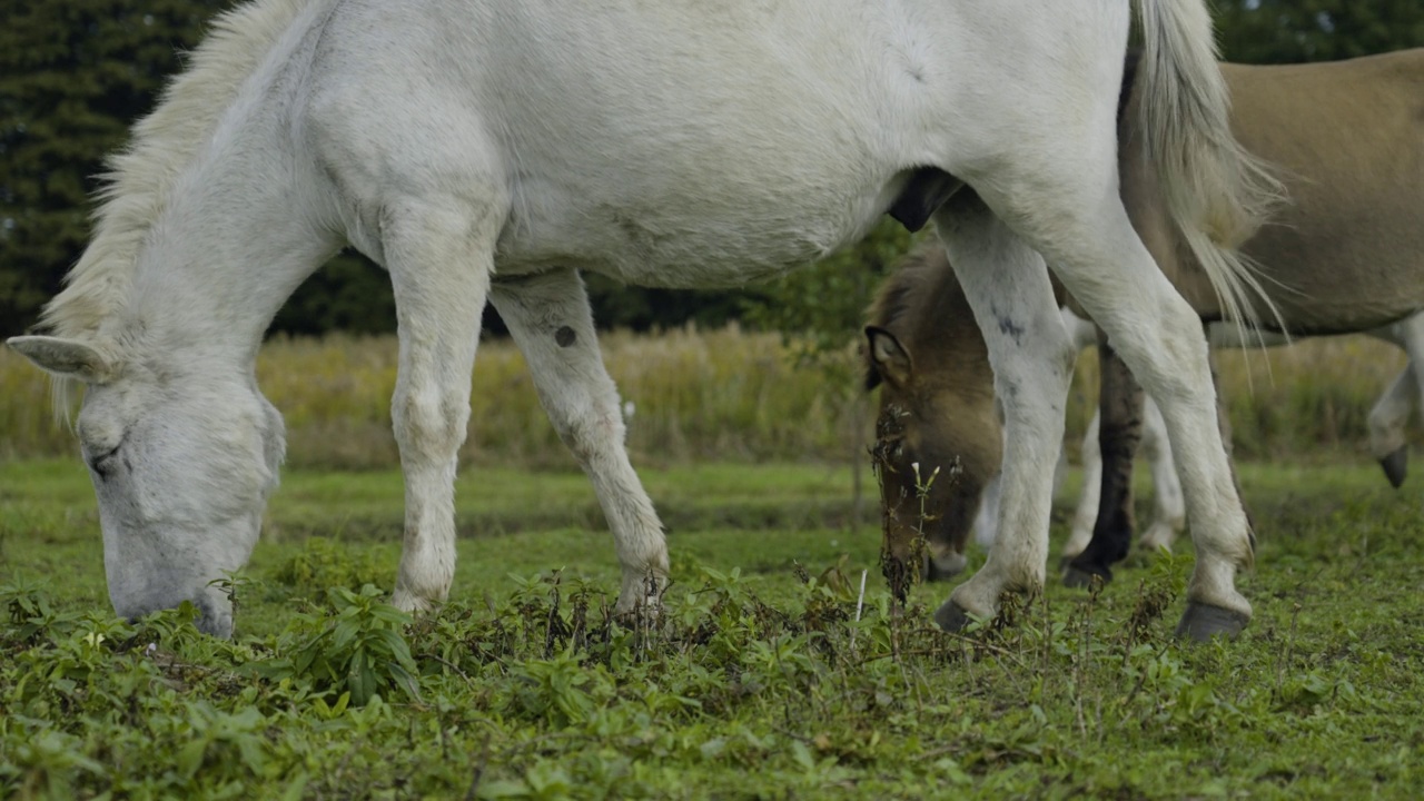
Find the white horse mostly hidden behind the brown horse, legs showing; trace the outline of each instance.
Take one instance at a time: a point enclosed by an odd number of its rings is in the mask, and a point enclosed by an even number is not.
[[[1092,322],[1075,315],[1069,308],[1062,308],[1064,324],[1069,335],[1079,348],[1089,348],[1098,343],[1098,331]],[[1390,483],[1398,487],[1404,483],[1405,462],[1405,425],[1410,415],[1424,408],[1424,382],[1420,381],[1417,365],[1424,363],[1424,315],[1414,315],[1400,322],[1366,332],[1383,342],[1390,342],[1403,349],[1408,358],[1408,365],[1390,383],[1388,389],[1370,409],[1370,452],[1384,465]],[[1273,332],[1252,334],[1249,342],[1242,342],[1239,332],[1227,325],[1213,322],[1208,326],[1208,342],[1212,348],[1256,348],[1262,345],[1286,345],[1289,341]],[[1098,443],[1098,425],[1102,418],[1101,406],[1095,406],[1092,420],[1082,436],[1082,487],[1078,495],[1078,506],[1074,510],[1072,529],[1068,542],[1064,543],[1062,559],[1071,559],[1092,540],[1092,529],[1098,522],[1098,503],[1102,493],[1102,450]],[[1162,412],[1151,396],[1142,403],[1142,442],[1138,453],[1148,463],[1152,476],[1152,523],[1142,533],[1139,543],[1148,552],[1158,549],[1172,549],[1178,534],[1186,527],[1186,503],[1182,497],[1182,482],[1176,475],[1176,463],[1172,460],[1172,443],[1168,438],[1166,423]],[[997,537],[997,524],[990,509],[998,493],[998,479],[995,477],[984,487],[984,503],[974,519],[974,540],[988,547]]]

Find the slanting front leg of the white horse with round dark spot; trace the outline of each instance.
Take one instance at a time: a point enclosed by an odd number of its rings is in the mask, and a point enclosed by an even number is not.
[[[624,448],[618,388],[604,368],[584,282],[572,269],[497,281],[490,301],[528,363],[540,402],[608,519],[622,587],[617,611],[655,607],[668,576],[662,523]]]

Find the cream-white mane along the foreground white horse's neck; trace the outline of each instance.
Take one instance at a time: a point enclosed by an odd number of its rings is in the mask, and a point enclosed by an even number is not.
[[[251,0],[214,17],[187,67],[164,88],[158,105],[134,124],[122,150],[105,160],[88,248],[64,278],[64,289],[40,314],[40,332],[93,338],[125,298],[138,252],[162,214],[168,194],[242,84],[313,0]],[[56,410],[73,408],[71,381],[57,379]]]

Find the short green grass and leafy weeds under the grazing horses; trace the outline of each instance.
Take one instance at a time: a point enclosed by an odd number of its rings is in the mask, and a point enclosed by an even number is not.
[[[1136,557],[1096,596],[1055,584],[951,637],[926,626],[947,586],[891,610],[874,526],[847,524],[844,469],[642,476],[674,559],[658,624],[608,621],[612,543],[580,475],[466,472],[451,601],[409,621],[380,603],[399,475],[293,469],[222,643],[184,610],[112,617],[77,459],[0,463],[0,797],[1424,788],[1424,517],[1418,487],[1390,490],[1373,465],[1243,466],[1256,617],[1199,647],[1169,636],[1189,546]]]

